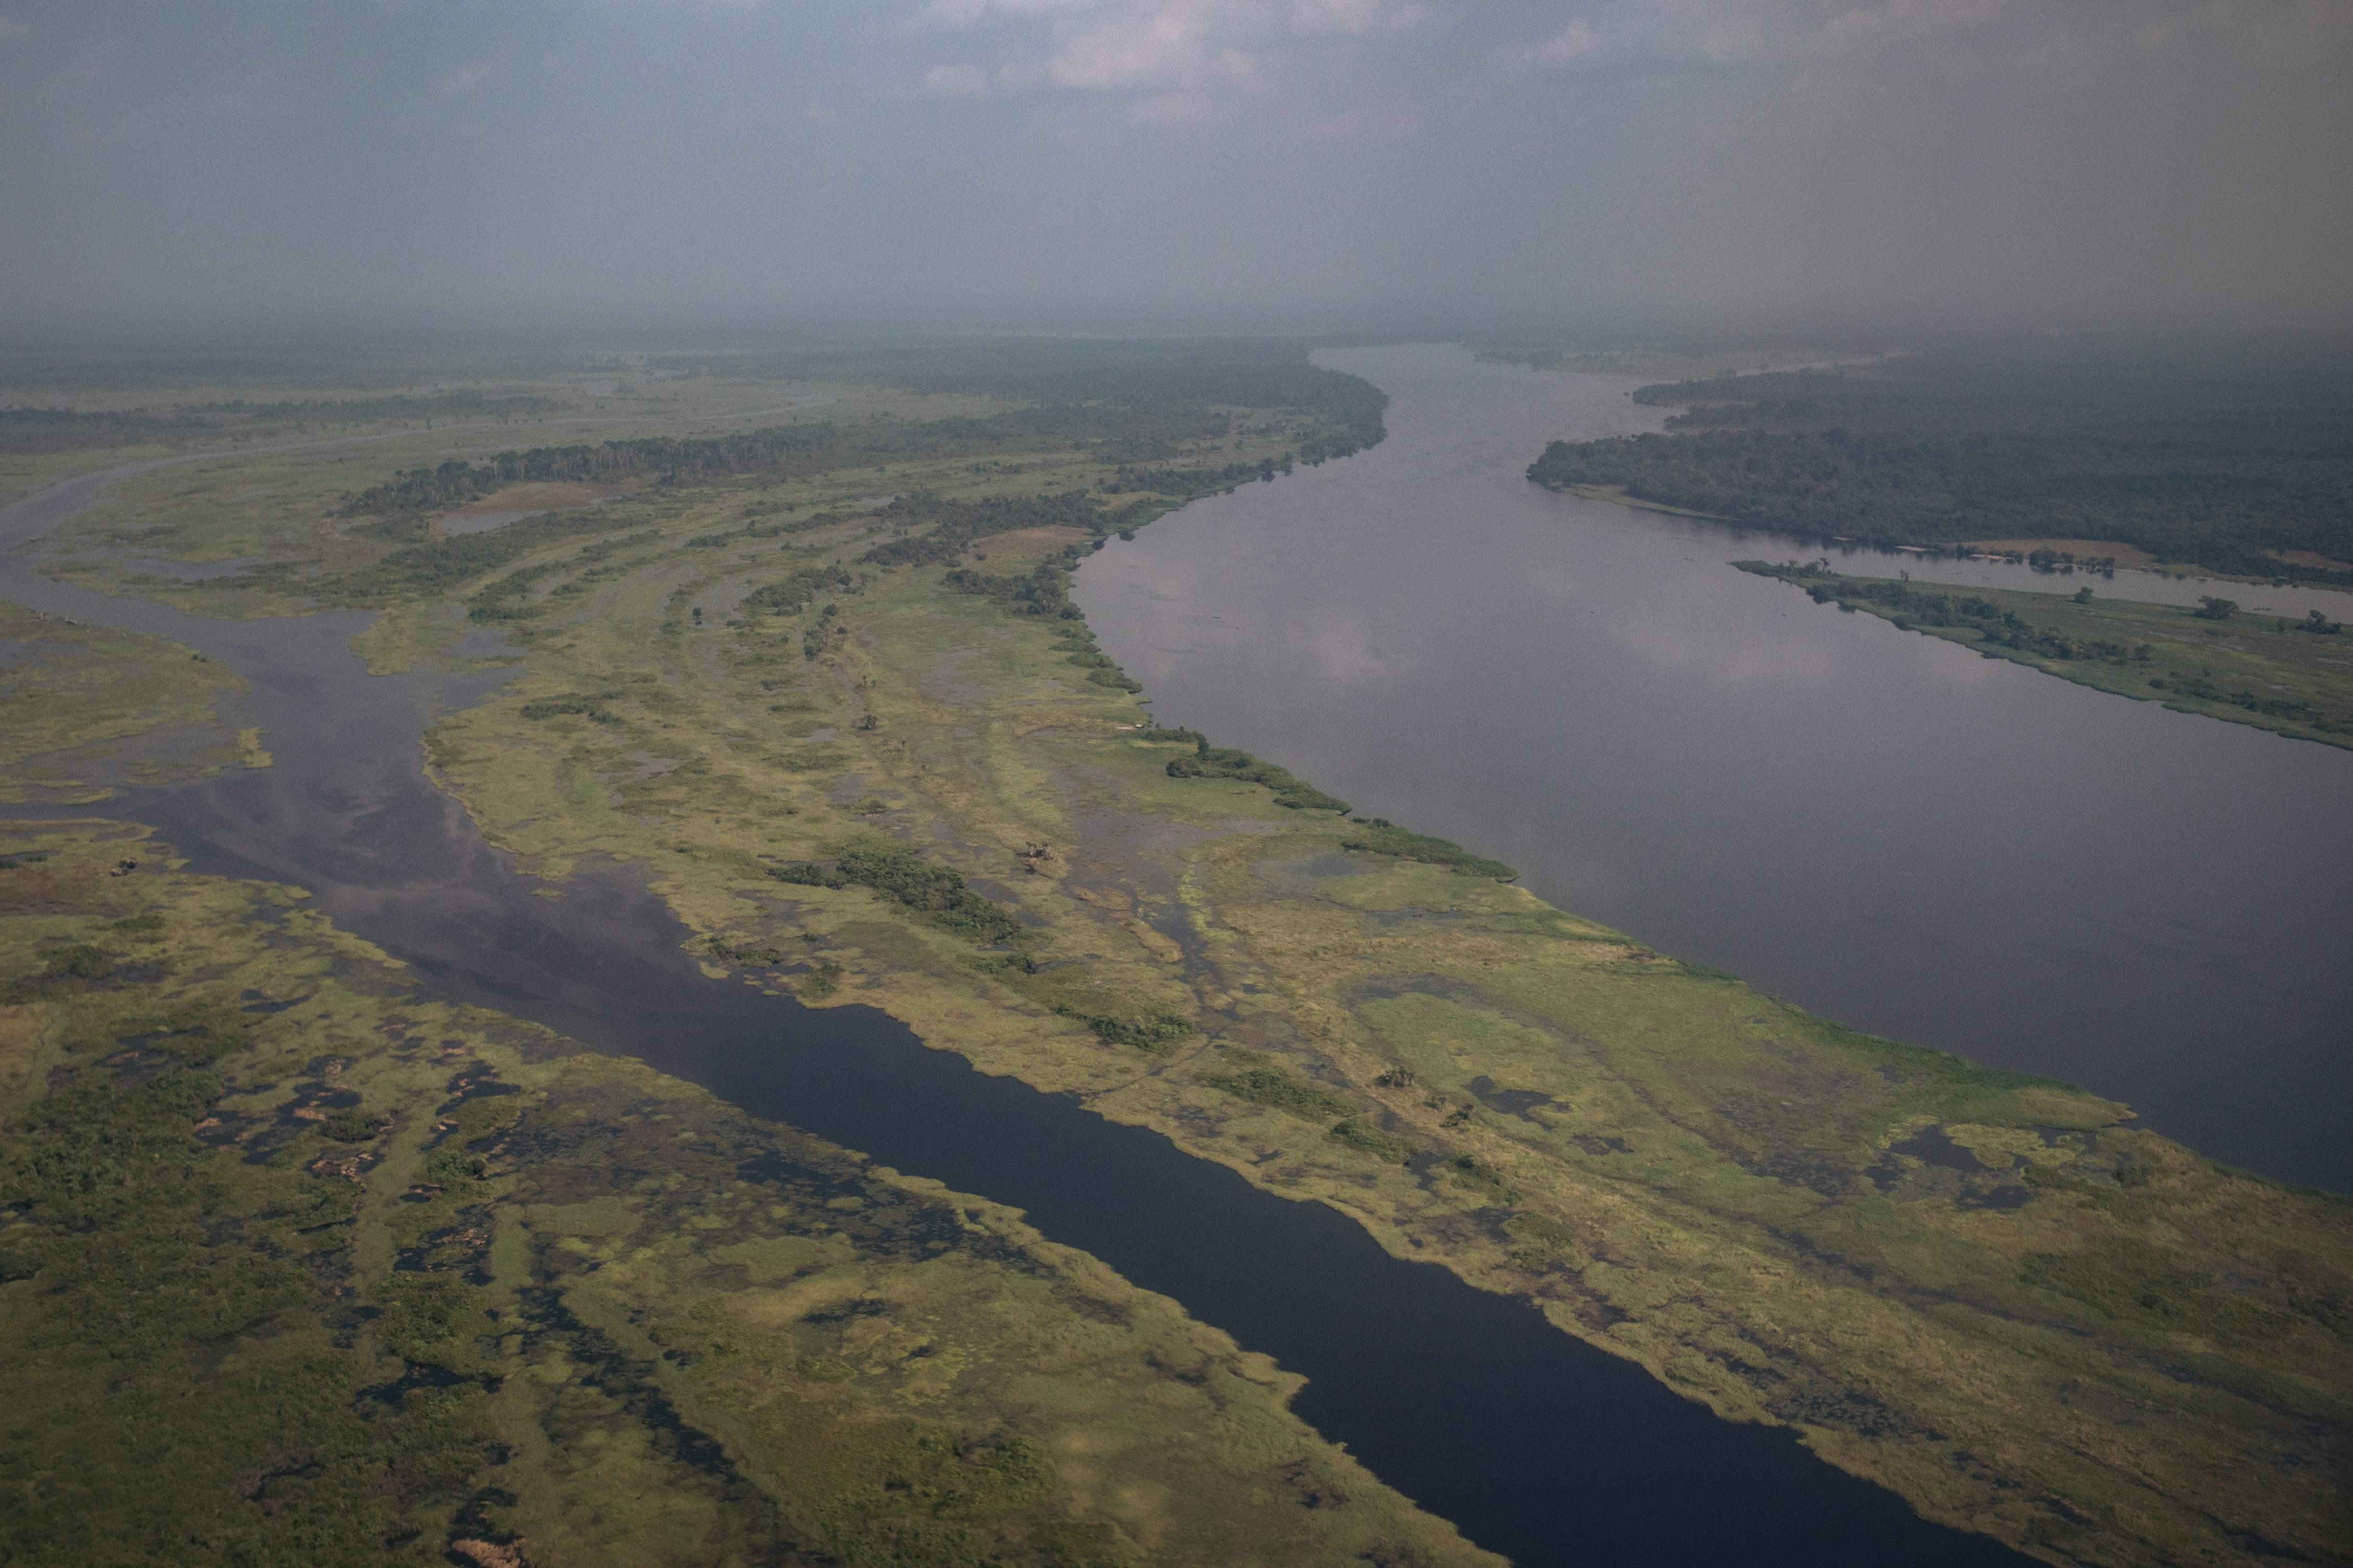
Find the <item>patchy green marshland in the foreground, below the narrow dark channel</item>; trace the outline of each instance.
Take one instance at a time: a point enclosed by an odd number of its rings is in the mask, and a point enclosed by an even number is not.
[[[0,823],[0,1561],[1497,1561],[1012,1211],[136,827]]]

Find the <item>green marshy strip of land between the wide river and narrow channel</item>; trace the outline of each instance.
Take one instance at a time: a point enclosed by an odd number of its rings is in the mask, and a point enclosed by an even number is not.
[[[2049,1561],[2339,1561],[2339,1199],[1809,1018],[1475,858],[1381,853],[1428,842],[1247,759],[1198,766],[1214,738],[1153,729],[1061,592],[1174,501],[1127,475],[1068,447],[656,487],[398,592],[369,524],[336,557],[289,501],[238,527],[308,552],[308,585],[235,592],[376,583],[386,668],[501,630],[518,679],[431,731],[433,776],[541,875],[649,867],[713,971],[882,1006],[1327,1201]],[[1040,491],[1099,517],[974,531]]]

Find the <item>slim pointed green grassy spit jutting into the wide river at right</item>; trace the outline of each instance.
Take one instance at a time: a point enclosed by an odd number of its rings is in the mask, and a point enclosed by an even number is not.
[[[2219,611],[2226,599],[2214,595],[2191,609],[2104,599],[2094,588],[2017,592],[1852,578],[1798,562],[1739,567],[1802,588],[1817,604],[1859,609],[2080,686],[2353,748],[2353,639],[2327,618]]]

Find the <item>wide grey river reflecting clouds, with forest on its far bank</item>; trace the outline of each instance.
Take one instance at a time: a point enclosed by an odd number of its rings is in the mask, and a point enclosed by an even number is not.
[[[1391,395],[1384,444],[1078,574],[1160,722],[1840,1023],[2353,1190],[2353,752],[1842,616],[1725,564],[1814,550],[1527,484],[1548,440],[1657,428],[1640,378],[1428,346],[1318,362]],[[2344,595],[2219,592],[2344,616]]]

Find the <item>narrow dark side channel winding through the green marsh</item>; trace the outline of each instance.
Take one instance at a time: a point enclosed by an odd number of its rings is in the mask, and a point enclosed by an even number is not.
[[[1788,1432],[1715,1420],[1522,1302],[1386,1255],[1337,1211],[984,1077],[871,1009],[805,1011],[706,980],[687,931],[621,872],[555,889],[518,877],[419,769],[435,705],[494,677],[372,679],[346,646],[365,616],[202,621],[52,583],[7,552],[96,491],[68,482],[0,508],[0,595],[176,637],[254,682],[247,722],[278,766],[96,809],[158,825],[198,870],[306,886],[442,994],[1026,1208],[1047,1237],[1304,1373],[1304,1420],[1520,1563],[2024,1561],[1920,1521]]]

